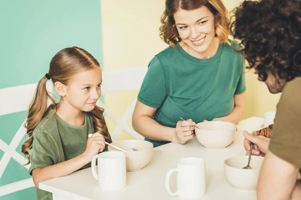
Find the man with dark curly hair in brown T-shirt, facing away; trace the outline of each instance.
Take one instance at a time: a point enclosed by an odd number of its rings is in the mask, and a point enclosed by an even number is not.
[[[244,131],[244,147],[264,155],[257,199],[301,199],[301,0],[245,0],[231,33],[271,93],[282,92],[271,139]],[[248,154],[248,153],[247,153]],[[281,171],[281,172],[280,172]]]

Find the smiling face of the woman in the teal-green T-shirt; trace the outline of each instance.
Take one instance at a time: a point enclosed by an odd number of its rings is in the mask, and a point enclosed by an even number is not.
[[[206,52],[215,38],[213,13],[206,6],[195,10],[180,8],[174,18],[179,36],[187,45],[188,51],[194,54]]]

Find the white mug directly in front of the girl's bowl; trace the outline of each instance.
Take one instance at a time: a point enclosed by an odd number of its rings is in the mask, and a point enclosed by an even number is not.
[[[96,171],[96,158],[98,173]],[[101,189],[122,189],[126,186],[125,154],[121,151],[102,152],[94,155],[91,162],[92,174]]]

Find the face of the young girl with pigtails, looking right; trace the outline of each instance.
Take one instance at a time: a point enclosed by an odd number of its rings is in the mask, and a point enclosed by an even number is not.
[[[64,100],[82,111],[91,111],[101,95],[101,68],[77,73],[66,86]]]

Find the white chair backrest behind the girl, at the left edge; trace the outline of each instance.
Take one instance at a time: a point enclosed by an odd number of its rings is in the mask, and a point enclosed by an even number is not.
[[[15,87],[8,87],[0,89],[0,116],[5,114],[11,114],[15,112],[25,111],[28,109],[29,103],[31,102],[35,93],[37,83],[25,84]],[[46,87],[49,91],[52,91],[52,82],[47,82]],[[26,120],[26,119],[25,119]],[[27,159],[24,159],[24,155],[20,154],[16,148],[26,134],[26,128],[23,126],[25,120],[20,124],[18,131],[14,135],[10,144],[7,144],[0,137],[0,149],[4,151],[4,155],[0,160],[0,179],[8,166],[11,158],[16,160],[21,165],[27,163]],[[0,135],[5,135],[1,132]],[[29,169],[31,164],[25,167]],[[16,181],[10,184],[0,186],[0,196],[13,193],[22,189],[35,186],[32,178]]]

